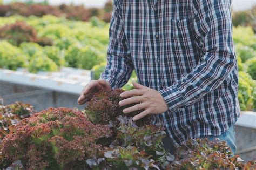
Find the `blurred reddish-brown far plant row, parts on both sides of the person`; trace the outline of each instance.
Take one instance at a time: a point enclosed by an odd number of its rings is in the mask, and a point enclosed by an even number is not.
[[[2,1],[0,1],[1,4]],[[84,6],[73,5],[49,5],[47,1],[42,3],[34,3],[34,1],[15,2],[6,5],[0,5],[0,17],[9,17],[11,15],[21,16],[37,16],[54,15],[58,17],[65,17],[67,19],[75,19],[79,21],[89,21],[92,16],[103,19],[109,22],[112,13],[112,1],[107,1],[103,9],[99,8],[84,8]],[[256,32],[255,25],[256,5],[249,10],[233,11],[232,20],[234,26],[251,26]]]

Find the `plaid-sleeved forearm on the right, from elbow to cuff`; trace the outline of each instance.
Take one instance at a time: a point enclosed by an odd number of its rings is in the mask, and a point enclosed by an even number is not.
[[[208,53],[205,58],[205,62],[199,64],[191,73],[185,74],[167,89],[159,91],[171,111],[196,103],[207,93],[217,89],[235,64],[234,55],[230,55],[230,60],[224,60]]]

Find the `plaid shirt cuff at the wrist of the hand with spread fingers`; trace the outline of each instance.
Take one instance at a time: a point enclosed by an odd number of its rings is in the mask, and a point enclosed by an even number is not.
[[[160,90],[159,92],[163,96],[170,112],[176,111],[185,104],[183,95],[175,85],[172,85],[167,89]]]

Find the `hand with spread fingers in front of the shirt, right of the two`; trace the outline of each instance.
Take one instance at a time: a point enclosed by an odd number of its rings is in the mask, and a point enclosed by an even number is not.
[[[131,103],[138,103],[132,107],[125,108],[124,113],[130,113],[138,110],[144,110],[132,118],[133,121],[139,120],[148,114],[160,114],[168,110],[168,106],[161,94],[149,87],[133,82],[136,89],[121,93],[121,97],[127,98],[119,102],[120,106]]]

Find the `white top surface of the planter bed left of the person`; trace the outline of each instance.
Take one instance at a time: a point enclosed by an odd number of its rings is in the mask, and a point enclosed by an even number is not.
[[[32,74],[25,69],[17,71],[0,69],[0,81],[80,94],[84,86],[91,81],[91,71],[65,67],[59,72]]]

